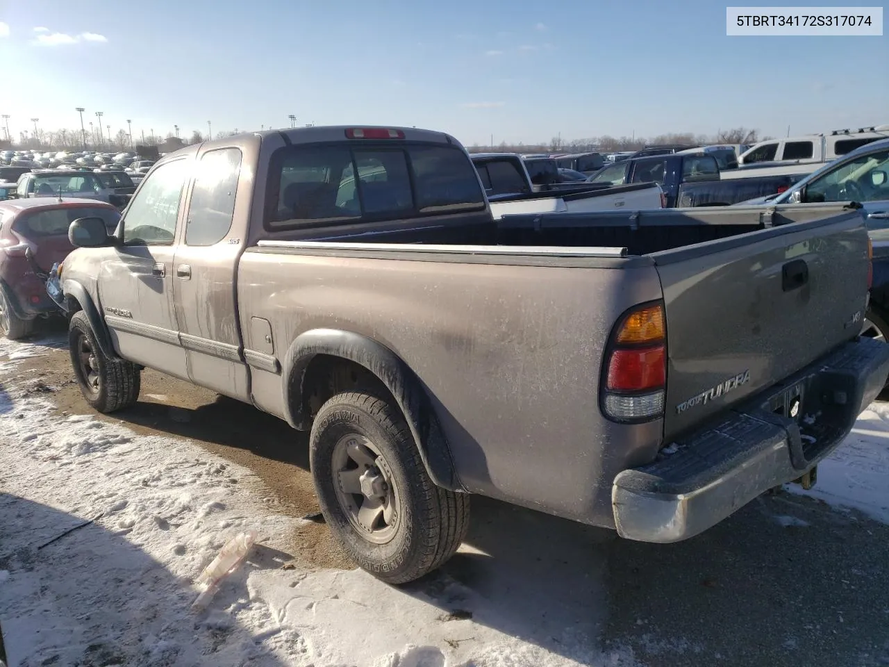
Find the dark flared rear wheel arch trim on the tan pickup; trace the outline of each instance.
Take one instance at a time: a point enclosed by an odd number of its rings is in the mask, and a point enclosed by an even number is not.
[[[295,429],[310,428],[313,415],[308,405],[311,388],[307,380],[313,376],[313,367],[330,363],[331,358],[363,368],[373,381],[387,390],[404,414],[429,478],[436,486],[463,491],[444,430],[420,379],[395,352],[360,333],[312,329],[296,337],[283,364],[287,422]]]

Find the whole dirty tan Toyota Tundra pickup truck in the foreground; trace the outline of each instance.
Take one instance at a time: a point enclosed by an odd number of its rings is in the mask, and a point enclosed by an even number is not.
[[[332,533],[392,583],[453,554],[470,494],[692,537],[812,483],[889,374],[854,205],[494,221],[444,133],[190,146],[69,237],[84,398],[132,406],[148,366],[309,430]]]

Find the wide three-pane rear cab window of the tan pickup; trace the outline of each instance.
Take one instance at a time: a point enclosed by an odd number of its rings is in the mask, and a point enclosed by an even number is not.
[[[271,169],[267,214],[277,228],[485,207],[475,168],[449,147],[294,146],[278,151]]]

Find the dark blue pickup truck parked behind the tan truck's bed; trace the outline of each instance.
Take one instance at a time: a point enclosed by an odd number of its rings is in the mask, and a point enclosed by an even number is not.
[[[740,170],[733,170],[740,171]],[[715,157],[705,152],[631,157],[606,166],[590,183],[622,185],[654,181],[664,190],[668,207],[727,206],[788,189],[805,174],[723,178]]]

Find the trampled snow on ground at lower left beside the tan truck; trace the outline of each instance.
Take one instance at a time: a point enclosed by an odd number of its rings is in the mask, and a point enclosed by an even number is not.
[[[252,472],[124,422],[53,417],[51,403],[4,381],[16,359],[44,352],[0,340],[0,629],[9,667],[636,664],[629,651],[597,647],[605,600],[595,576],[523,582],[507,565],[508,581],[498,566],[482,585],[442,575],[399,590],[360,570],[282,569],[285,537],[300,519],[264,502]],[[196,576],[250,528],[260,543],[248,561],[193,611]],[[558,599],[541,599],[553,591]],[[555,611],[542,618],[541,607]]]

